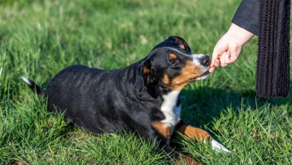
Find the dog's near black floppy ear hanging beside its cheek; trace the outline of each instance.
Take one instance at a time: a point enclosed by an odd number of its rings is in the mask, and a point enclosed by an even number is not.
[[[144,87],[147,87],[149,83],[153,83],[155,79],[155,69],[151,64],[150,58],[145,59],[138,66],[136,71],[136,80],[134,83],[134,90],[141,94]]]

